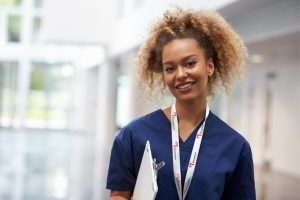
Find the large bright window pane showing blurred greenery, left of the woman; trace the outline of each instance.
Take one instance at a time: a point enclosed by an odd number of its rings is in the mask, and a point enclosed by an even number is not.
[[[71,65],[33,63],[26,126],[67,128],[73,73]]]

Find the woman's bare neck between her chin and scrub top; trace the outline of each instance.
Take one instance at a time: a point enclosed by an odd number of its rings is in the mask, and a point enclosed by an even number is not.
[[[205,118],[206,98],[193,102],[176,101],[178,119],[198,125]]]

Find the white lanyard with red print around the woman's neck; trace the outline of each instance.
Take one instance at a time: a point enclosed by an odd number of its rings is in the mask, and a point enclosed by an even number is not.
[[[207,119],[207,116],[209,114],[209,107],[208,105],[206,106],[206,111],[205,111],[205,119],[201,127],[198,129],[192,154],[190,157],[188,169],[186,172],[186,177],[184,180],[184,187],[183,187],[183,192],[182,192],[182,187],[181,187],[181,170],[180,170],[180,155],[179,155],[179,132],[178,132],[178,118],[177,118],[177,113],[176,113],[176,106],[173,104],[172,110],[171,110],[171,129],[172,129],[172,154],[173,154],[173,171],[174,171],[174,179],[175,179],[175,185],[177,188],[178,196],[180,200],[184,200],[185,196],[189,190],[194,171],[195,171],[195,166],[197,162],[197,157],[199,153],[199,149],[201,146],[201,141],[203,137],[203,131],[205,127],[205,122]]]

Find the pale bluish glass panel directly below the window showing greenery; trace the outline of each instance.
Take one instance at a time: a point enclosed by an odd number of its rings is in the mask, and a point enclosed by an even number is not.
[[[27,136],[24,199],[66,199],[71,139],[66,132],[45,130]]]

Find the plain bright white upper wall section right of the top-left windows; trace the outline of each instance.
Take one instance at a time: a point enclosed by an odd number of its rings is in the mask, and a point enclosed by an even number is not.
[[[106,44],[118,10],[116,0],[45,1],[44,40],[55,43]]]

